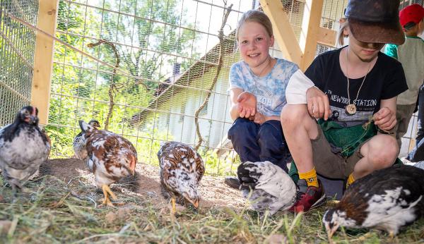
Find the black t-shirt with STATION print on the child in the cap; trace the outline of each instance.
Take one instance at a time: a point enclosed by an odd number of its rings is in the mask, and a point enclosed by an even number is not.
[[[349,102],[348,80],[341,71],[339,61],[341,49],[327,51],[317,56],[305,72],[315,86],[329,97],[330,109],[333,113],[329,118],[331,121],[342,123],[350,121],[350,126],[353,126],[352,122],[355,124],[365,123],[372,114],[379,111],[380,100],[396,97],[408,89],[401,63],[379,52],[377,62],[367,74],[358,99],[355,101],[356,113],[354,115],[346,114],[345,107],[355,100],[363,77],[349,79],[351,97],[351,102]]]

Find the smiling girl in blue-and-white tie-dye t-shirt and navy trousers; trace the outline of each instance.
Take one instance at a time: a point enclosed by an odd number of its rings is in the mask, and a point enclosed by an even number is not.
[[[307,88],[313,84],[295,63],[270,56],[274,37],[271,20],[264,12],[244,13],[236,38],[242,61],[230,69],[230,115],[234,123],[228,138],[242,162],[271,161],[287,172],[291,158],[280,122],[281,109],[287,103],[285,90],[293,81],[309,83]],[[235,177],[225,178],[225,183],[232,188],[240,185]]]

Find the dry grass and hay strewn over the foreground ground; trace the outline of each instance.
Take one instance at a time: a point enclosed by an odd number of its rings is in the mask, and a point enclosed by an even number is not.
[[[10,188],[0,189],[0,223],[7,225],[0,243],[328,243],[320,219],[331,203],[303,215],[278,212],[262,219],[247,208],[185,209],[172,221],[155,198],[128,191],[117,193],[124,207],[95,207],[102,193],[83,178],[44,176],[25,187],[14,202]],[[333,241],[423,243],[424,220],[393,240],[379,231],[341,230]]]

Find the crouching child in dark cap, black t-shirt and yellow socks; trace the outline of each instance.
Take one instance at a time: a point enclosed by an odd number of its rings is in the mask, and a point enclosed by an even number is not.
[[[297,94],[286,92],[281,123],[300,178],[290,211],[324,203],[317,173],[348,187],[396,161],[399,146],[387,133],[396,125],[396,97],[408,87],[401,63],[380,49],[404,43],[398,14],[399,1],[348,1],[343,35],[349,45],[317,56],[305,71],[319,90],[307,90],[307,104],[290,103]],[[338,117],[330,121],[331,111]]]

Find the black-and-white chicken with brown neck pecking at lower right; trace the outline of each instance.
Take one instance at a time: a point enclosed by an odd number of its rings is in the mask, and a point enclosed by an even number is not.
[[[323,216],[329,238],[339,226],[376,228],[396,236],[424,215],[424,170],[395,165],[358,179]]]

